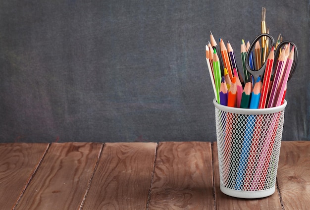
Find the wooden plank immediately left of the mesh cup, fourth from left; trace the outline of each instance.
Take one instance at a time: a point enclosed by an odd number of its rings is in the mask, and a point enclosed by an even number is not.
[[[214,209],[210,142],[158,146],[149,210]]]

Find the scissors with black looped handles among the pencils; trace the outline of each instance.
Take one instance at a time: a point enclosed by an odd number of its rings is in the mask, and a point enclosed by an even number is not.
[[[265,68],[266,68],[266,64],[267,62],[265,61],[262,65],[261,65],[261,68],[258,69],[258,70],[255,70],[255,69],[252,69],[250,67],[250,64],[249,64],[249,58],[250,58],[250,52],[252,52],[253,48],[255,47],[255,43],[261,39],[262,37],[268,37],[271,41],[271,47],[275,45],[275,42],[274,42],[274,39],[271,35],[269,34],[260,34],[258,35],[252,42],[252,44],[250,45],[250,48],[248,50],[248,53],[247,53],[247,56],[246,56],[246,63],[245,63],[245,67],[247,69],[247,71],[254,77],[254,82],[257,81],[257,78],[258,76],[263,76],[264,72],[265,72]],[[293,64],[292,64],[292,68],[291,68],[291,71],[290,71],[290,75],[289,75],[289,78],[288,78],[288,81],[292,78],[295,70],[296,70],[296,64],[297,64],[297,59],[298,59],[298,51],[297,51],[297,47],[296,45],[291,42],[291,41],[283,41],[281,42],[278,46],[277,46],[277,49],[274,51],[274,60],[277,60],[279,55],[280,55],[280,50],[281,50],[281,47],[286,45],[286,44],[290,44],[292,46],[294,46],[294,60],[293,60]],[[270,52],[269,52],[270,53]],[[268,57],[268,56],[266,56]],[[267,60],[267,59],[266,59]],[[273,66],[272,66],[272,71],[274,73],[275,71],[275,68],[276,68],[276,65],[277,65],[277,62],[273,62]]]

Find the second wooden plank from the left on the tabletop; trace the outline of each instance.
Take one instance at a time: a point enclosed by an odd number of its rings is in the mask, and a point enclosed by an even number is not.
[[[16,209],[79,209],[102,146],[99,143],[53,143]]]

